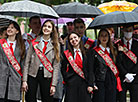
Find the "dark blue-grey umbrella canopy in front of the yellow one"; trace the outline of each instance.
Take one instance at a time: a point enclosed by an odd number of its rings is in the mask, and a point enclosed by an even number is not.
[[[137,24],[137,23],[138,23],[137,13],[115,11],[108,14],[97,16],[88,26],[88,29],[122,26],[125,24]]]

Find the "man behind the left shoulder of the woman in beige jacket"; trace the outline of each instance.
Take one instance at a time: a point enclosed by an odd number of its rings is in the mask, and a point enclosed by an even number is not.
[[[40,33],[40,28],[41,28],[40,17],[32,16],[29,19],[29,27],[32,30],[32,32],[23,34],[23,39],[25,40],[26,50],[29,48],[30,40],[34,39]]]

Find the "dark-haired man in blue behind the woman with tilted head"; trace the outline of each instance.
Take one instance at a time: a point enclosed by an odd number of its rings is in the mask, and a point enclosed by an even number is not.
[[[78,34],[80,34],[80,36],[82,37],[82,41],[84,44],[84,47],[86,49],[89,49],[91,47],[94,47],[96,45],[96,42],[88,37],[86,37],[85,34],[85,30],[86,30],[86,26],[85,23],[82,19],[77,18],[73,21],[74,24],[74,31]]]

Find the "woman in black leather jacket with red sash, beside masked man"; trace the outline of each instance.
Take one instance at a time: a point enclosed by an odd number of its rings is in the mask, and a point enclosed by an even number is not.
[[[93,82],[93,102],[116,102],[116,87],[121,91],[116,51],[108,30],[101,29],[97,46],[88,53],[89,81]],[[118,84],[117,84],[118,82]]]

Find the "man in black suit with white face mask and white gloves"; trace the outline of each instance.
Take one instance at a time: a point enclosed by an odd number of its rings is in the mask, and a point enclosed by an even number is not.
[[[127,90],[130,93],[130,102],[138,102],[138,42],[132,38],[133,31],[132,25],[124,26],[124,37],[116,42],[118,48],[116,63],[123,88],[119,93],[119,102],[126,102]]]

